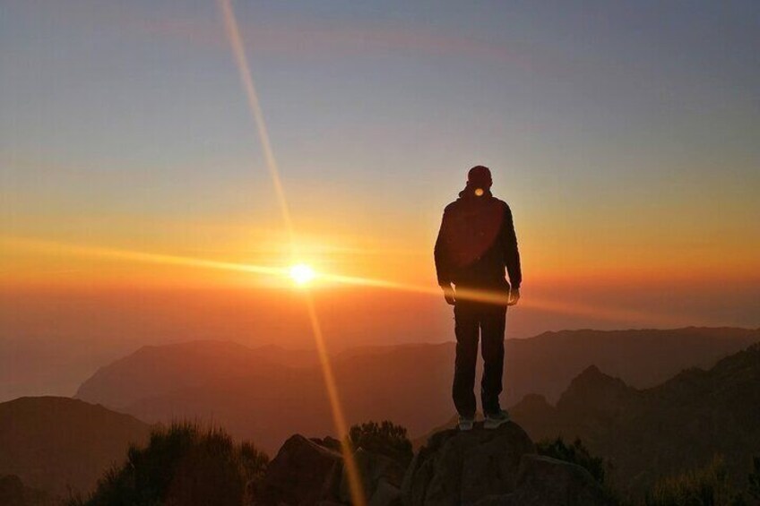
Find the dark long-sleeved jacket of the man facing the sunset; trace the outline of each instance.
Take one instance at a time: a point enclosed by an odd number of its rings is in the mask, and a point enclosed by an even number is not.
[[[441,286],[505,287],[505,268],[513,288],[522,282],[512,210],[490,192],[476,196],[468,187],[446,206],[435,255]]]

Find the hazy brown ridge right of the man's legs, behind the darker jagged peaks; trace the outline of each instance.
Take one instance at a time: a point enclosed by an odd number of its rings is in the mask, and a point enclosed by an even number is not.
[[[664,382],[760,342],[760,329],[562,330],[507,340],[506,403],[539,393],[555,402],[589,365],[635,388]]]

